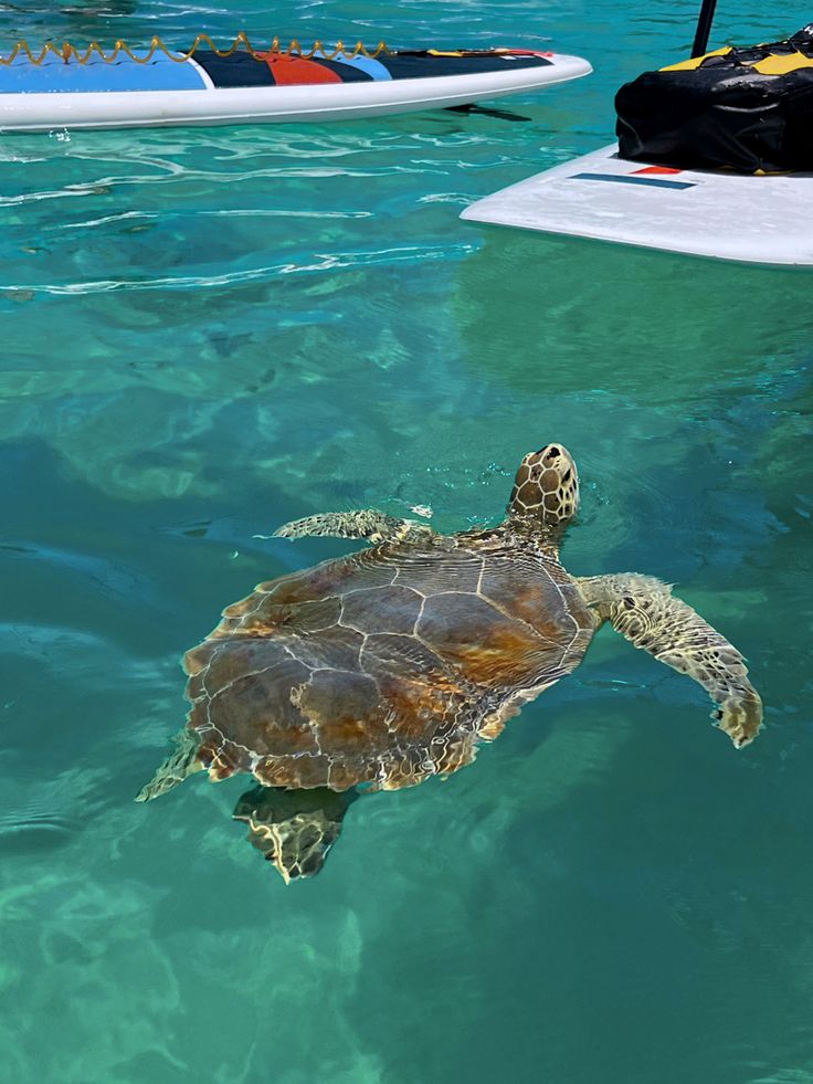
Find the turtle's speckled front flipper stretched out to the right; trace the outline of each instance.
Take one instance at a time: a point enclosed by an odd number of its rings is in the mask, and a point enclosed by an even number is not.
[[[748,681],[742,655],[690,606],[654,577],[630,572],[580,579],[604,621],[657,660],[694,677],[717,705],[711,717],[737,748],[759,734],[762,701]]]

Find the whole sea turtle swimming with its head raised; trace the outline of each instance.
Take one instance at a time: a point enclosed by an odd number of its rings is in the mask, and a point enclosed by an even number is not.
[[[561,444],[530,452],[506,519],[444,536],[374,511],[310,516],[286,538],[373,548],[261,583],[187,652],[192,707],[175,753],[138,796],[205,768],[251,772],[250,841],[285,881],[317,873],[353,788],[394,790],[469,764],[506,719],[569,674],[609,621],[699,682],[739,748],[762,704],[742,655],[650,576],[577,578],[559,562],[579,505]]]

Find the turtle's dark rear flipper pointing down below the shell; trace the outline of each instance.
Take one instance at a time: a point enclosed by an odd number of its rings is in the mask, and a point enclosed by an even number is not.
[[[288,884],[296,877],[314,877],[321,870],[345,813],[357,798],[355,790],[337,792],[327,787],[252,787],[239,799],[233,817],[246,822],[249,842]]]

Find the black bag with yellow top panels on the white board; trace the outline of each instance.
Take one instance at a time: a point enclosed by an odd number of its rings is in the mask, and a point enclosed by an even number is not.
[[[622,158],[678,169],[813,170],[813,23],[788,41],[720,49],[625,83]]]

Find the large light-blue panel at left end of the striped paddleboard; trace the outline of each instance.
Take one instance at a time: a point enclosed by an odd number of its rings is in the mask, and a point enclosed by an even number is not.
[[[147,50],[134,53],[146,56]],[[42,64],[32,64],[22,55],[11,64],[0,64],[0,94],[203,90],[205,83],[194,64],[179,64],[158,53],[148,64],[136,64],[127,55],[113,64],[98,59],[87,64],[71,60],[66,64],[53,55]]]

